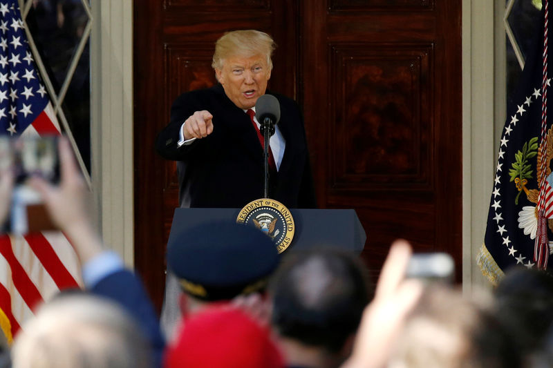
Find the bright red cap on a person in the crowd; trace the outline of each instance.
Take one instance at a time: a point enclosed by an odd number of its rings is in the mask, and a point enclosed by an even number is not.
[[[209,307],[191,316],[167,348],[165,368],[281,368],[283,359],[271,339],[245,312]]]

